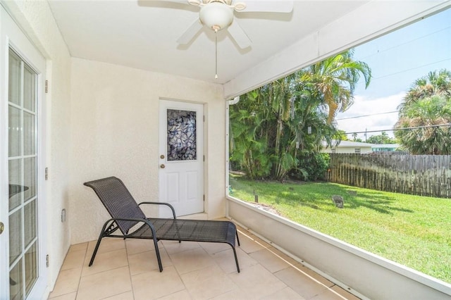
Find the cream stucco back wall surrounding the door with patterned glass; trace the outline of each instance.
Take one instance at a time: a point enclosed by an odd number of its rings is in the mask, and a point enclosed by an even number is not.
[[[160,99],[205,104],[206,212],[208,218],[225,216],[221,85],[80,58],[73,58],[71,78],[72,244],[97,239],[109,217],[83,182],[114,175],[137,201],[158,199]]]

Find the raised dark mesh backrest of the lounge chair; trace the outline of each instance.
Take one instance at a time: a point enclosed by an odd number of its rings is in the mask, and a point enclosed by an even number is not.
[[[128,189],[119,178],[107,177],[85,182],[83,185],[94,189],[94,192],[99,196],[101,203],[104,204],[112,218],[146,218],[140,206],[133,199],[132,194],[128,192]],[[124,235],[127,235],[128,230],[135,226],[136,223],[137,221],[116,221]]]

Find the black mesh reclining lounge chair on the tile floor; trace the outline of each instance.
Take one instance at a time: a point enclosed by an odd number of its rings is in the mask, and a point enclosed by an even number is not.
[[[92,254],[89,266],[94,263],[94,258],[99,249],[101,239],[104,237],[120,237],[123,239],[153,239],[155,245],[156,259],[160,272],[163,270],[158,249],[158,241],[192,241],[192,242],[216,242],[227,243],[232,246],[237,272],[240,273],[237,252],[235,251],[235,237],[240,246],[235,224],[229,221],[218,220],[180,220],[175,218],[175,211],[171,204],[163,202],[142,202],[137,204],[123,182],[116,177],[85,182],[84,185],[91,187],[110,213],[111,219],[104,223],[99,239]],[[171,208],[173,218],[147,218],[142,212],[140,205],[156,204]],[[138,223],[137,229],[133,229]],[[114,234],[117,230],[118,234]]]

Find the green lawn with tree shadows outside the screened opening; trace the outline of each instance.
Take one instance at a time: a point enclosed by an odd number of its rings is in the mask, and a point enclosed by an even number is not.
[[[451,283],[451,199],[238,175],[230,185],[235,198],[253,202],[258,194],[285,218]],[[343,196],[342,209],[332,195]]]

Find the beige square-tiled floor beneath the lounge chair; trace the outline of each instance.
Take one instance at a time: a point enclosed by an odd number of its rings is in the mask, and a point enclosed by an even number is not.
[[[70,247],[49,299],[358,299],[239,228],[237,273],[227,244],[106,238]]]

